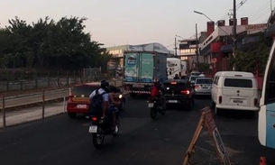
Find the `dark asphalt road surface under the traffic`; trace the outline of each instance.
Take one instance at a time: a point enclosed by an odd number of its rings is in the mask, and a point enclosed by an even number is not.
[[[199,110],[205,105],[210,105],[210,99],[196,99],[193,111],[171,109],[152,121],[146,99],[128,98],[120,135],[106,137],[101,150],[93,146],[87,133],[90,123],[84,116],[73,120],[63,114],[17,125],[0,132],[0,161],[9,165],[179,165],[195,132]],[[215,116],[215,123],[232,164],[259,164],[260,156],[275,164],[275,151],[261,147],[258,141],[257,117],[229,113]],[[203,149],[215,151],[206,130],[199,137],[193,162],[210,160],[211,155]],[[205,164],[220,163],[212,160]]]

